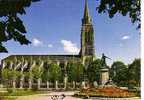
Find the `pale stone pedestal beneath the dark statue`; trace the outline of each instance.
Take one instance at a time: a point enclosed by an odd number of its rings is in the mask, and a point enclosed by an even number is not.
[[[107,68],[101,69],[100,79],[101,79],[101,85],[105,85],[109,81],[109,69]]]

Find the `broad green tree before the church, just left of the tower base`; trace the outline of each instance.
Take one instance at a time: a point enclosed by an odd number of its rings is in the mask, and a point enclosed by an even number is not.
[[[68,80],[80,82],[84,74],[84,66],[79,63],[68,63]]]

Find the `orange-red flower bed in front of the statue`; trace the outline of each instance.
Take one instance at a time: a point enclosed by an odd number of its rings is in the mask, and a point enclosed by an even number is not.
[[[99,88],[82,89],[79,93],[76,93],[75,96],[125,98],[125,97],[135,97],[136,93],[129,92],[128,90],[120,89],[118,87],[103,87],[103,88],[99,87]]]

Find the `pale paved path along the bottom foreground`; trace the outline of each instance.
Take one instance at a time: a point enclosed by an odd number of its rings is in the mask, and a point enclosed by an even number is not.
[[[51,92],[48,94],[39,94],[39,95],[30,95],[30,96],[21,96],[18,97],[17,100],[52,100],[51,97],[53,95],[59,95],[61,96],[62,94],[65,94],[66,97],[63,100],[83,100],[80,98],[75,98],[72,97],[74,92]],[[62,100],[62,99],[57,99],[57,100]],[[86,100],[86,99],[85,99]],[[93,99],[87,99],[87,100],[140,100],[139,98],[93,98]]]

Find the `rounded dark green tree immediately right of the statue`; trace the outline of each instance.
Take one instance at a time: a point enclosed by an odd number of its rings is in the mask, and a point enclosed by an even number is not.
[[[128,85],[128,74],[127,74],[127,66],[121,62],[116,61],[112,64],[110,69],[110,77],[118,86],[127,86]]]

